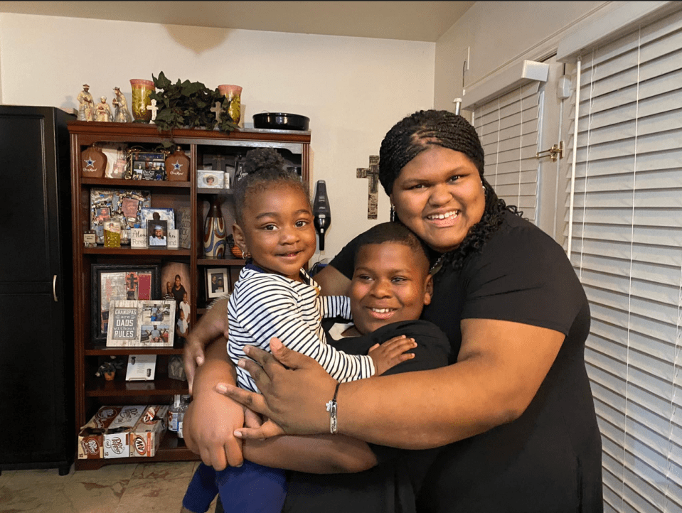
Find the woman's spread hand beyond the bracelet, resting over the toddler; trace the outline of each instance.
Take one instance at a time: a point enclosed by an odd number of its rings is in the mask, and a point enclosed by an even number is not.
[[[255,361],[239,362],[251,374],[261,394],[225,383],[216,387],[221,394],[268,419],[260,428],[238,429],[235,436],[267,438],[282,433],[329,432],[325,405],[334,396],[336,380],[311,357],[284,347],[277,338],[270,340],[270,350],[272,354],[246,346],[244,351]]]

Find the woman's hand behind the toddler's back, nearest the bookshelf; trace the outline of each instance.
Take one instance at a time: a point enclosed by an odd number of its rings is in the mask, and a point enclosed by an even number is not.
[[[206,360],[204,350],[206,346],[218,337],[228,338],[228,299],[217,301],[201,316],[196,326],[188,333],[185,340],[183,362],[189,393],[192,393],[196,367],[203,365]]]

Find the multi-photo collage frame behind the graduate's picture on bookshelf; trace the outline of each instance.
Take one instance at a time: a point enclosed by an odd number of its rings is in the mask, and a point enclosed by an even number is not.
[[[130,229],[139,225],[140,210],[151,207],[149,190],[90,190],[90,229],[97,244],[104,244],[104,223],[116,221],[121,225],[121,244],[128,244]]]

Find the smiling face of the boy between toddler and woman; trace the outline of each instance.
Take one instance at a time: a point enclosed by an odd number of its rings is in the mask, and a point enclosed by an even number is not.
[[[400,320],[415,320],[431,302],[429,262],[400,242],[366,244],[358,252],[348,295],[353,323],[371,333]]]

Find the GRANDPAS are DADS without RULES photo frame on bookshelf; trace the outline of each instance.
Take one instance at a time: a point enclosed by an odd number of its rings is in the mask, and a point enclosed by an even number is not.
[[[107,347],[173,347],[175,301],[112,301]]]

